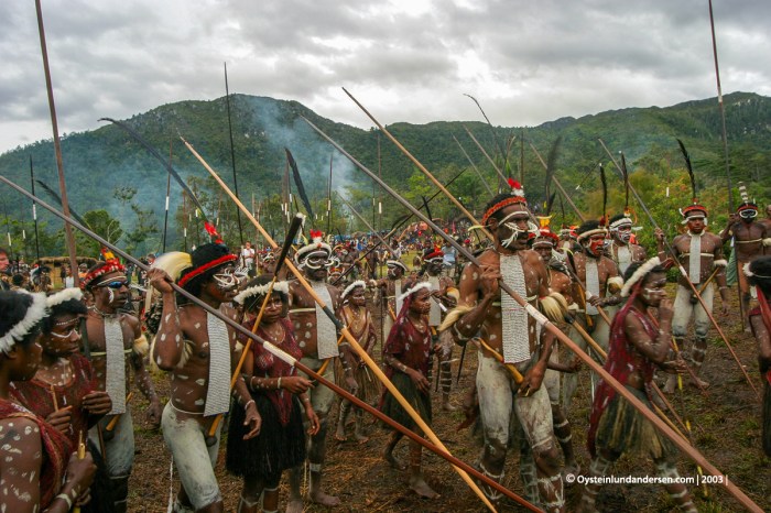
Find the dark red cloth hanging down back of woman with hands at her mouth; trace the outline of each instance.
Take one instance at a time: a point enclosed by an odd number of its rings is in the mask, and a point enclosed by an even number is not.
[[[610,327],[610,342],[608,351],[608,360],[605,362],[605,370],[622,385],[627,384],[629,375],[634,371],[640,371],[645,383],[645,395],[651,400],[651,381],[653,380],[653,371],[655,363],[640,354],[634,348],[634,345],[627,338],[625,330],[625,319],[627,315],[637,317],[649,337],[654,339],[659,332],[653,321],[642,312],[631,306],[631,301],[627,306],[619,312],[613,318]],[[602,412],[608,407],[610,401],[616,396],[616,391],[605,381],[600,381],[595,393],[595,401],[591,405],[591,415],[589,416],[589,433],[587,435],[587,446],[589,454],[596,456],[595,435],[597,426],[602,416]]]

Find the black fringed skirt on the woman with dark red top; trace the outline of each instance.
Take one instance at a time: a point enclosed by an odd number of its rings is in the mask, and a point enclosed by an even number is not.
[[[292,401],[292,414],[282,426],[273,403],[263,394],[252,394],[262,417],[260,434],[245,440],[246,412],[239,405],[230,410],[228,447],[225,466],[239,477],[258,477],[267,482],[278,482],[281,472],[305,461],[305,429],[300,401]]]

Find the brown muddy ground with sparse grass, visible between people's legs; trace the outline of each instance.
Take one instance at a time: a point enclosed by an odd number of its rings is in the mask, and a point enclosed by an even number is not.
[[[738,304],[734,304],[729,317],[718,317],[718,321],[728,336],[740,361],[746,367],[754,386],[761,391],[758,375],[757,349],[751,335],[741,330]],[[374,315],[379,316],[376,309]],[[474,380],[477,356],[469,350],[466,353],[460,381],[453,386],[452,399],[460,404],[463,395]],[[456,348],[454,357],[460,357]],[[458,371],[458,361],[453,363],[453,375]],[[695,447],[728,479],[741,489],[762,510],[771,511],[771,461],[762,455],[760,448],[760,402],[741,374],[737,362],[720,341],[715,329],[710,331],[710,345],[703,375],[712,386],[702,395],[696,389],[686,386],[685,393],[675,393],[672,403],[682,418],[691,421]],[[167,382],[164,376],[156,376],[160,393],[167,397]],[[661,380],[660,380],[661,382]],[[579,463],[588,467],[586,451],[586,430],[589,413],[589,373],[586,368],[580,373],[578,399],[574,401],[572,413],[573,437]],[[452,413],[442,412],[439,395],[434,395],[434,423],[436,435],[446,447],[461,460],[474,465],[479,455],[478,441],[469,429],[458,430],[457,425],[464,419],[460,410]],[[137,435],[137,456],[130,482],[129,511],[165,512],[170,496],[170,454],[160,433],[152,432],[144,422],[142,412],[146,403],[135,401],[134,419]],[[332,417],[336,419],[337,407]],[[367,417],[368,423],[371,417]],[[227,424],[226,424],[227,425]],[[406,489],[406,473],[390,469],[380,458],[388,437],[388,432],[378,425],[370,425],[370,439],[365,444],[356,441],[339,443],[334,439],[334,428],[328,430],[327,463],[325,466],[325,488],[330,494],[338,495],[343,505],[337,511],[401,512],[401,511],[482,511],[479,500],[469,491],[460,478],[439,457],[424,451],[424,470],[430,484],[441,493],[441,498],[427,501],[419,499]],[[352,439],[349,432],[349,438]],[[224,444],[222,444],[224,446]],[[515,445],[513,446],[517,447]],[[402,441],[397,456],[408,459],[408,444]],[[518,474],[519,452],[510,450],[506,469],[504,484],[518,494],[522,485]],[[681,457],[678,469],[683,476],[694,476],[695,465]],[[623,457],[612,473],[616,476],[654,474],[652,461],[644,457]],[[224,469],[224,455],[217,465],[217,476],[225,498],[225,510],[236,511],[241,483],[228,476]],[[178,480],[173,479],[176,490]],[[286,505],[286,483],[281,487],[281,509]],[[742,511],[740,504],[719,485],[695,488],[695,502],[699,511],[734,512]],[[566,489],[568,511],[575,509],[580,494],[580,487]],[[666,493],[660,485],[652,484],[608,484],[599,496],[600,511],[607,512],[666,512],[673,510]],[[326,507],[307,504],[306,511],[321,512]],[[513,502],[502,503],[501,511],[524,511]]]

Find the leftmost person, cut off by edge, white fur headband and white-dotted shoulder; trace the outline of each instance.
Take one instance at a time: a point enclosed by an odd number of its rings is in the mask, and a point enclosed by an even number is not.
[[[14,513],[69,511],[88,499],[96,469],[89,452],[78,459],[64,435],[9,394],[12,381],[31,380],[37,371],[45,310],[43,294],[0,292],[1,502]]]

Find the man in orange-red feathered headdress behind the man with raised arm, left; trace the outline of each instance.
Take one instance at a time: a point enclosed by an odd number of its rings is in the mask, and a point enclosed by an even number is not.
[[[115,491],[113,511],[127,511],[129,476],[134,459],[134,429],[131,408],[126,397],[129,376],[134,372],[134,384],[150,401],[148,418],[153,427],[161,423],[161,403],[155,394],[150,374],[144,368],[148,341],[137,317],[120,313],[129,298],[126,268],[112,253],[105,252],[105,262],[94,265],[80,281],[80,286],[90,292],[93,305],[82,325],[82,350],[91,361],[97,388],[106,391],[112,400],[112,410],[91,427],[88,437],[102,450],[110,484]],[[115,416],[115,429],[105,430]],[[99,432],[102,436],[99,436]]]

